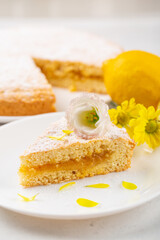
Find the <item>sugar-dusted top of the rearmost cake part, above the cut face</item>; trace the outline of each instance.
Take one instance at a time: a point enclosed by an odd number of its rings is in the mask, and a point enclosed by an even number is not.
[[[18,28],[0,32],[0,54],[82,62],[100,66],[122,49],[93,34],[64,28]]]

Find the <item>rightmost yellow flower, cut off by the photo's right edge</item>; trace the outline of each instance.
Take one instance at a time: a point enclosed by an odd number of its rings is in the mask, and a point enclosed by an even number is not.
[[[153,106],[148,109],[141,106],[139,117],[132,119],[129,123],[133,129],[133,138],[137,145],[146,142],[153,149],[160,145],[159,116],[160,109],[156,111]]]

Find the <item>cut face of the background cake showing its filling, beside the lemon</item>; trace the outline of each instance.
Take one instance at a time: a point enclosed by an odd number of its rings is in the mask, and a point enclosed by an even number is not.
[[[106,93],[100,67],[81,62],[33,59],[52,86],[70,91]]]

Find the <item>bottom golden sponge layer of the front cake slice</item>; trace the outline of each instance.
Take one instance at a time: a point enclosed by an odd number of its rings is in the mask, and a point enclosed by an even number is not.
[[[67,181],[78,180],[85,177],[93,177],[96,175],[105,175],[111,172],[125,171],[131,167],[131,157],[133,149],[130,150],[129,156],[125,160],[113,161],[111,158],[104,158],[100,161],[91,161],[80,164],[81,168],[77,168],[73,163],[67,163],[68,169],[52,169],[52,166],[43,166],[41,169],[20,168],[19,176],[21,185],[24,187],[33,187],[39,185],[49,185],[53,183],[62,183]],[[82,162],[83,163],[83,162]]]

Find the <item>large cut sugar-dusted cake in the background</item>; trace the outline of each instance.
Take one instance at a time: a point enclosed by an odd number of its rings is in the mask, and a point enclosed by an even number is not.
[[[0,35],[1,116],[33,115],[55,110],[53,91],[49,90],[50,97],[39,94],[37,100],[31,78],[34,78],[34,83],[37,82],[38,86],[39,79],[44,78],[46,85],[71,91],[106,93],[102,63],[123,51],[118,45],[96,35],[63,28],[15,28],[1,30]],[[35,76],[37,68],[39,73]],[[12,75],[12,79],[8,78],[8,74]],[[19,88],[21,82],[23,84]],[[24,85],[30,90],[26,91]],[[31,98],[26,97],[28,93]],[[39,101],[42,102],[40,108],[32,106]]]

